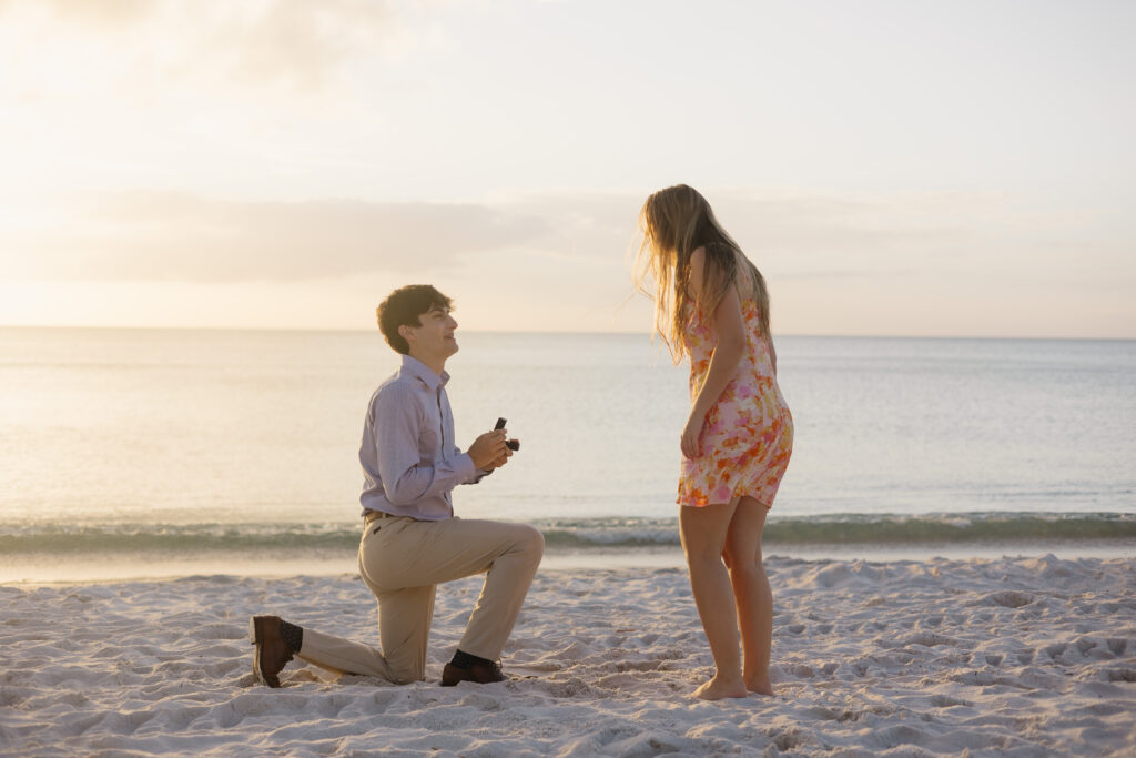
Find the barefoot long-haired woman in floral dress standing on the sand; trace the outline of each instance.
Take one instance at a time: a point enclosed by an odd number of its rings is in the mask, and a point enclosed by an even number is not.
[[[769,293],[692,188],[652,194],[640,225],[636,285],[653,295],[655,330],[676,363],[691,359],[679,531],[716,667],[694,694],[772,694],[772,593],[761,565],[761,531],[793,450],[793,418],[777,388]],[[653,293],[644,288],[648,277]]]

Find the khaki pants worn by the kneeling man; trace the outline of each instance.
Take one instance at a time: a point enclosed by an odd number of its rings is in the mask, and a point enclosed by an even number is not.
[[[299,656],[321,668],[395,684],[425,678],[434,585],[487,572],[458,649],[495,660],[543,555],[544,538],[527,524],[376,519],[359,543],[359,573],[378,599],[382,652],[304,627]]]

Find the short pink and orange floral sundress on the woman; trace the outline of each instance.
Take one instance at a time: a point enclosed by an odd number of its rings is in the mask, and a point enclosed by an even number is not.
[[[744,276],[744,274],[743,274]],[[678,500],[702,508],[750,497],[772,508],[793,452],[793,416],[774,375],[769,344],[761,336],[761,316],[752,298],[742,300],[745,355],[737,375],[707,414],[699,436],[702,455],[683,457]],[[691,357],[691,403],[710,370],[718,336],[708,314],[691,303],[683,333]]]

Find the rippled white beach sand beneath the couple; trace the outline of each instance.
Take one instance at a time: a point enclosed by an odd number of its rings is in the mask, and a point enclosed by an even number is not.
[[[675,569],[545,570],[506,651],[437,685],[478,580],[440,590],[432,681],[253,683],[248,617],[359,640],[351,576],[0,586],[0,752],[19,756],[1136,755],[1136,559],[767,561],[774,698],[703,702]]]

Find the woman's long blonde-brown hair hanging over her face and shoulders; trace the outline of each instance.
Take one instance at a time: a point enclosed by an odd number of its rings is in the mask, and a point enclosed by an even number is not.
[[[709,315],[737,284],[738,295],[758,303],[762,336],[769,336],[769,290],[758,267],[715,218],[710,203],[685,184],[659,190],[640,211],[643,240],[635,258],[633,278],[640,292],[654,300],[654,328],[675,361],[686,355],[683,330],[691,318],[691,253],[705,248],[702,291],[694,293],[702,313]],[[744,272],[745,276],[738,276]],[[654,291],[648,286],[654,280]]]

